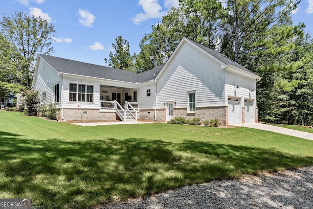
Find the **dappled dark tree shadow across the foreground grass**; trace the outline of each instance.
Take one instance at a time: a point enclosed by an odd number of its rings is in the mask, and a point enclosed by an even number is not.
[[[86,208],[244,173],[311,165],[313,157],[185,139],[63,141],[0,132],[0,198]],[[25,195],[27,197],[25,197]]]

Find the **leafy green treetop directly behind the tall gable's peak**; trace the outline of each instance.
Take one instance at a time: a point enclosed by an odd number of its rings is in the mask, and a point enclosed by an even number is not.
[[[214,49],[224,15],[221,8],[217,0],[180,0],[179,7],[170,9],[141,40],[136,68],[145,71],[164,64],[183,37]]]

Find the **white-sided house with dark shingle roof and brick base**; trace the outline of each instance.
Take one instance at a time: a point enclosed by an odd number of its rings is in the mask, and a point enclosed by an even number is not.
[[[183,38],[170,59],[135,74],[39,54],[32,87],[56,103],[63,120],[217,118],[257,121],[261,77],[219,52]]]

